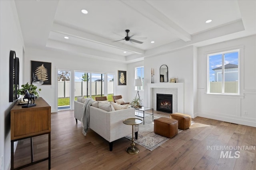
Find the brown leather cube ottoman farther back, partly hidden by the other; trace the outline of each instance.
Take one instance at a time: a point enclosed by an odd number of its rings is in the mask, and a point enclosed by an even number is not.
[[[170,114],[170,119],[178,120],[178,129],[188,129],[191,126],[191,116],[183,113]]]

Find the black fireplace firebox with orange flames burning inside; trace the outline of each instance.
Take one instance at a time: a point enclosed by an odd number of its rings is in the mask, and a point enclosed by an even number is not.
[[[172,94],[156,94],[156,110],[172,113]]]

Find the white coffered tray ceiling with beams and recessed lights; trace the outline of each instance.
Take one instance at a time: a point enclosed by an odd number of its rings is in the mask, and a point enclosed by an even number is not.
[[[188,45],[199,47],[256,34],[256,1],[16,0],[15,3],[25,48],[54,48],[125,63]],[[88,14],[83,14],[83,9]],[[126,29],[132,39],[143,43],[117,41],[124,39]]]

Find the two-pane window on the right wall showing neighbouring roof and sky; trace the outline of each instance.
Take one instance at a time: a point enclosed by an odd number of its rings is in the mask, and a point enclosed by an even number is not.
[[[239,50],[208,55],[208,93],[239,94]]]

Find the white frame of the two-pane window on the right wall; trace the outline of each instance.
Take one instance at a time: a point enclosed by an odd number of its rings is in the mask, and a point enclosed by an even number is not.
[[[222,74],[222,92],[221,93],[211,93],[210,92],[210,72],[209,72],[209,57],[212,55],[222,55],[222,72],[225,73],[224,71],[224,65],[225,65],[225,57],[224,55],[227,53],[234,53],[238,52],[238,92],[237,93],[225,93],[224,88],[225,88],[225,74]],[[224,95],[240,95],[240,49],[234,49],[234,50],[229,50],[229,51],[222,51],[218,53],[211,53],[207,55],[207,94],[224,94]]]

